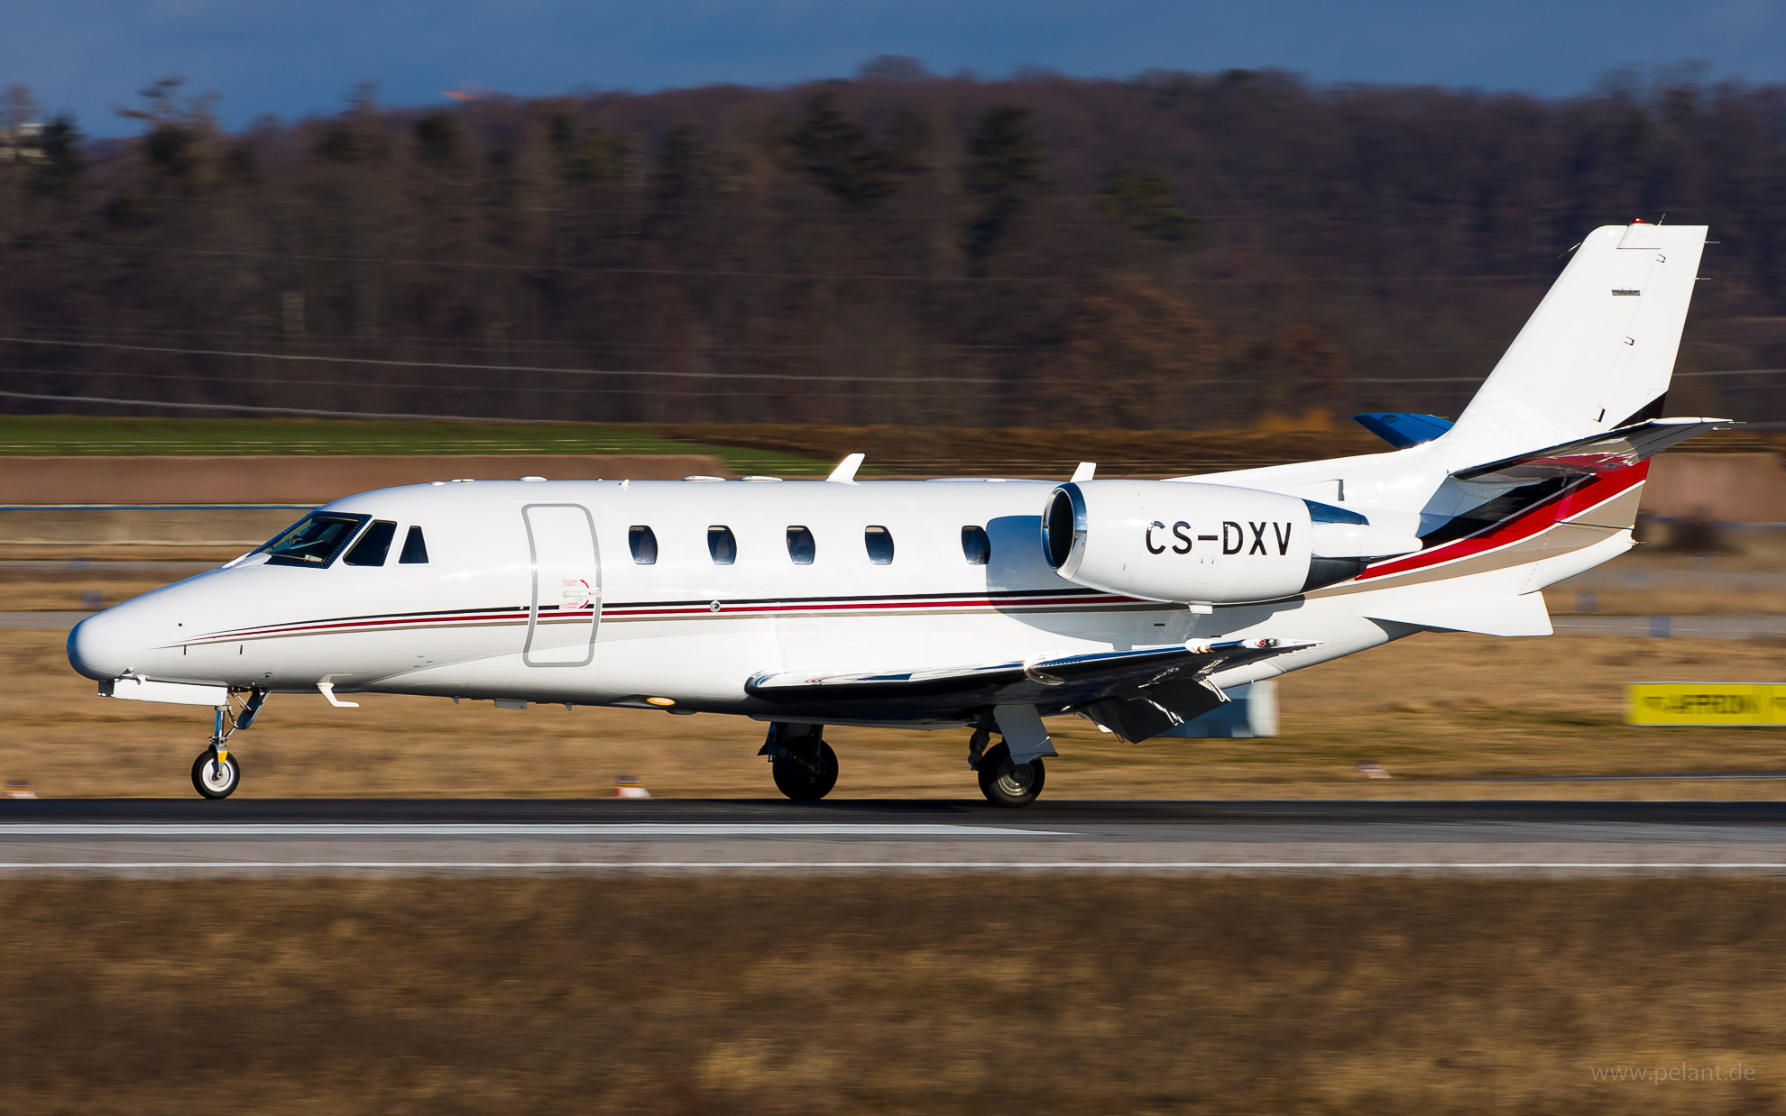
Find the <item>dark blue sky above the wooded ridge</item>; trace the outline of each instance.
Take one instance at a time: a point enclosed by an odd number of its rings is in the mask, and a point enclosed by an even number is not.
[[[0,84],[93,134],[157,77],[239,127],[477,86],[518,95],[845,77],[877,54],[1002,77],[1279,66],[1314,80],[1579,93],[1697,59],[1786,80],[1786,0],[0,0]]]

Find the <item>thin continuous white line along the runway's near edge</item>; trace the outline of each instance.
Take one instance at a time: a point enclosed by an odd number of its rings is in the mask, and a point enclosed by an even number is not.
[[[1786,871],[1786,861],[39,861],[0,871]]]

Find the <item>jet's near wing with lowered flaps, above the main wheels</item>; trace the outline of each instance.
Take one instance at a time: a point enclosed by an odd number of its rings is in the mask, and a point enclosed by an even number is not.
[[[1086,712],[1125,739],[1147,739],[1227,700],[1207,684],[1211,673],[1306,646],[1313,643],[1229,639],[889,673],[763,673],[745,684],[745,693],[839,720],[970,721],[991,705],[1036,705],[1045,714]],[[1143,702],[1161,711],[1164,723],[1147,732],[1161,716],[1125,720],[1111,702]]]

